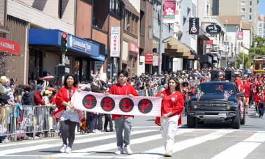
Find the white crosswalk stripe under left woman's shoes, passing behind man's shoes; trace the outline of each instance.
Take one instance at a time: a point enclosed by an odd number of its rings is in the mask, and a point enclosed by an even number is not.
[[[184,129],[184,130],[180,130],[178,135],[181,135],[183,133],[186,132],[192,132],[194,130],[188,130],[188,129]],[[137,139],[132,139],[130,140],[131,144],[140,144],[140,143],[144,143],[144,142],[149,142],[151,140],[155,140],[155,139],[160,139],[161,135],[152,135],[152,136],[148,136],[148,137],[140,137]],[[72,153],[70,154],[66,154],[66,153],[59,153],[59,154],[55,154],[52,157],[79,157],[79,156],[87,156],[91,153],[96,153],[98,151],[107,151],[109,149],[115,149],[116,148],[116,143],[111,143],[111,144],[104,144],[104,145],[100,145],[100,146],[93,146],[87,149],[80,149],[80,150],[76,150],[76,151],[72,151]]]

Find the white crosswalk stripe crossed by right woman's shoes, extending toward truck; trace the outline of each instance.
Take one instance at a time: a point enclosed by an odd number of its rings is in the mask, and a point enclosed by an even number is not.
[[[233,132],[233,130],[220,130],[217,132],[212,132],[209,135],[204,135],[201,137],[195,137],[193,139],[187,139],[182,142],[176,142],[174,144],[173,153],[176,153],[177,151],[181,151],[183,149],[187,149],[190,146],[195,146],[197,144],[202,144],[203,142],[207,142],[212,139],[218,139],[219,137],[222,137],[223,135],[226,135],[230,132]],[[164,146],[158,147],[156,149],[151,149],[149,151],[145,151],[141,154],[136,154],[132,156],[128,156],[127,158],[160,158],[165,153]],[[144,157],[145,156],[145,157]]]

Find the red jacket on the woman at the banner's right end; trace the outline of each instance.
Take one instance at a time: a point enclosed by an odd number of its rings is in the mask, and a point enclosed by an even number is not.
[[[180,115],[178,121],[178,125],[180,125],[181,113],[184,107],[184,100],[182,94],[179,91],[175,91],[175,93],[170,93],[169,89],[158,93],[157,96],[159,97],[161,94],[164,94],[161,104],[161,116],[169,112],[173,113],[169,117]]]

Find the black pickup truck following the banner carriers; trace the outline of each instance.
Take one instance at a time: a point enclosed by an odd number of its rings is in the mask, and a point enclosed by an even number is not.
[[[199,84],[187,107],[188,128],[204,121],[229,121],[232,128],[245,124],[244,93],[232,82],[204,82]]]

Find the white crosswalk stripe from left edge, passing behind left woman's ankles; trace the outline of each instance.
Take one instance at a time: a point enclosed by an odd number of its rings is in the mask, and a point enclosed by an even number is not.
[[[132,131],[132,135],[135,134],[141,134],[144,132],[152,132],[152,131],[158,131],[158,130],[138,130],[138,131]],[[101,139],[110,139],[116,137],[116,135],[107,135],[107,136],[100,136],[100,137],[94,137],[94,138],[89,138],[89,139],[82,139],[82,140],[77,140],[74,142],[74,144],[81,144],[81,143],[85,143],[85,142],[94,142],[94,141],[98,141]],[[18,149],[8,149],[8,150],[3,150],[0,151],[1,155],[7,155],[7,154],[12,154],[12,153],[21,153],[21,152],[27,152],[27,151],[33,151],[33,150],[38,150],[38,149],[47,149],[47,148],[52,148],[52,147],[56,147],[56,146],[61,146],[62,143],[61,142],[57,142],[56,144],[40,144],[37,146],[28,146],[28,147],[22,147],[22,148],[18,148]]]

